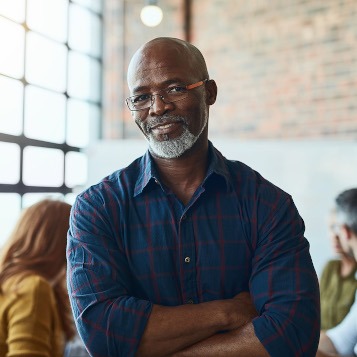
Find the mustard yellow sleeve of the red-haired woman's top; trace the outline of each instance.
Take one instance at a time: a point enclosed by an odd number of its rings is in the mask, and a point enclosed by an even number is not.
[[[53,356],[53,298],[40,277],[21,283],[8,312],[8,356]]]

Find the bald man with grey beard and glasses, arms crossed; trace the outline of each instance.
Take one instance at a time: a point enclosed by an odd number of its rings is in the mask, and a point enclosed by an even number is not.
[[[68,289],[93,356],[314,356],[320,315],[291,197],[208,141],[217,86],[157,38],[128,69],[148,152],[78,196]]]

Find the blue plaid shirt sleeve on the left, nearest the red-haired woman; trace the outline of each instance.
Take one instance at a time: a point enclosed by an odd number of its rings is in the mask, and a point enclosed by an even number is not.
[[[99,194],[98,194],[99,196]],[[77,198],[67,242],[67,286],[78,332],[91,356],[134,356],[152,304],[132,295],[119,212],[92,193]],[[113,212],[113,210],[111,210]]]

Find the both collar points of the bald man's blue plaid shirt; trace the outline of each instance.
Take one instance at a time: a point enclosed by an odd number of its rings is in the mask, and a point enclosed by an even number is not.
[[[219,152],[213,144],[208,142],[208,169],[203,185],[214,175],[218,175],[224,179],[227,190],[232,188],[230,174],[227,168],[225,157]],[[134,197],[141,194],[143,190],[149,185],[151,180],[159,183],[159,175],[154,164],[154,160],[147,150],[141,157],[139,163],[139,176],[135,184]]]

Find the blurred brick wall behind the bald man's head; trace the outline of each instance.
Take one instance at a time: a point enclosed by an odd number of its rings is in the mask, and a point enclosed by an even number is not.
[[[159,1],[164,20],[154,29],[140,22],[143,2],[122,2],[122,37],[106,37],[107,55],[115,52],[109,63],[120,63],[104,86],[107,138],[137,135],[128,112],[118,109],[119,93],[108,96],[113,86],[126,96],[134,50],[156,36],[184,38],[183,1]],[[118,1],[107,0],[107,13],[109,3]],[[357,0],[193,0],[192,12],[192,43],[219,89],[211,134],[357,139]]]

